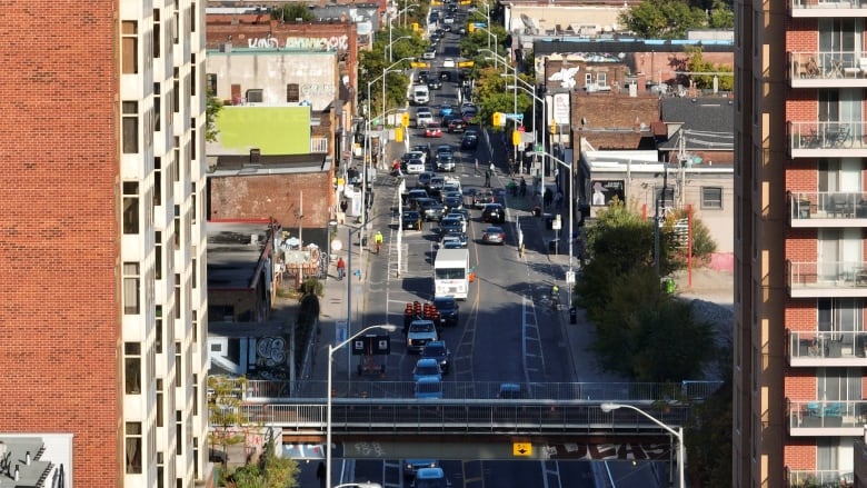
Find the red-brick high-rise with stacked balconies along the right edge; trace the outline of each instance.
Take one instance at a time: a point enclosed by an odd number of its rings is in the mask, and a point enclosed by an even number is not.
[[[733,486],[838,486],[867,424],[867,3],[735,11]]]

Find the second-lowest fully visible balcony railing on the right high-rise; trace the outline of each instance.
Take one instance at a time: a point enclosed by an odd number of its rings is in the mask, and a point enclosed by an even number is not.
[[[789,365],[794,367],[867,366],[865,331],[789,331]]]

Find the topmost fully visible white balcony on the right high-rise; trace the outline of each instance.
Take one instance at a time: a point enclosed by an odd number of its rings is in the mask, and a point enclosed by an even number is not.
[[[867,87],[867,52],[789,52],[789,84],[791,88]]]

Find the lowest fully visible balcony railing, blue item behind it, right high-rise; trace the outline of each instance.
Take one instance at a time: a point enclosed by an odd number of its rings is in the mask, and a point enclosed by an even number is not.
[[[788,401],[791,436],[863,436],[865,400]]]

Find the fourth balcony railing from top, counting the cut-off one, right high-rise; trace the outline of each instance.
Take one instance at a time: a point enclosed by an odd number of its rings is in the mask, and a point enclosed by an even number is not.
[[[867,192],[790,192],[789,210],[791,227],[854,227],[853,222],[829,222],[826,219],[867,219]],[[817,222],[816,219],[826,221]]]

